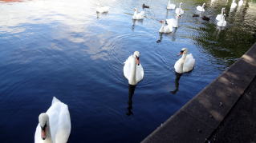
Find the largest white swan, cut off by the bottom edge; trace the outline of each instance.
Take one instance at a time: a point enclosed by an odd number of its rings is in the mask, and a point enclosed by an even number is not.
[[[67,105],[53,97],[51,107],[39,115],[35,143],[66,143],[71,133],[71,119]]]

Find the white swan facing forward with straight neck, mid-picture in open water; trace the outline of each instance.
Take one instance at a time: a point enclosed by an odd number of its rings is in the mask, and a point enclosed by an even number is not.
[[[135,51],[124,62],[124,77],[128,79],[129,85],[136,85],[144,77],[144,70],[140,64],[140,52]]]

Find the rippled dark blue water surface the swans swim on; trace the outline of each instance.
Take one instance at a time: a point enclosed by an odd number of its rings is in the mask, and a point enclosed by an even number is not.
[[[102,1],[111,8],[98,18],[98,1],[0,1],[1,142],[34,142],[39,113],[53,96],[69,106],[69,142],[143,140],[256,42],[255,0],[235,10],[226,0],[182,2],[180,27],[156,43],[156,20],[175,17],[165,9],[167,0]],[[209,22],[192,18],[203,2]],[[132,22],[132,9],[141,10],[142,3],[150,6],[148,18]],[[221,7],[224,30],[214,20]],[[182,47],[196,66],[177,77],[173,65]],[[135,50],[144,80],[129,96],[123,62]]]

